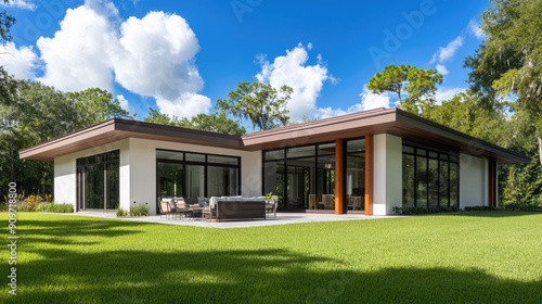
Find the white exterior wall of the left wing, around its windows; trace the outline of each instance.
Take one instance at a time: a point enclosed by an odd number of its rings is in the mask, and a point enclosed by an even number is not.
[[[136,204],[149,203],[156,214],[156,149],[241,156],[241,194],[261,195],[261,151],[202,147],[188,143],[129,138],[94,147],[54,160],[55,201],[69,203],[76,210],[76,160],[120,149],[119,207],[129,210]]]

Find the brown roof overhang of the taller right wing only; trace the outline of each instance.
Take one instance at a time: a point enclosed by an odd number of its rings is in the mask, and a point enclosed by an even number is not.
[[[531,161],[514,151],[399,109],[376,109],[259,131],[244,136],[243,141],[249,150],[266,150],[378,134],[390,134],[428,147],[487,157],[504,164]]]

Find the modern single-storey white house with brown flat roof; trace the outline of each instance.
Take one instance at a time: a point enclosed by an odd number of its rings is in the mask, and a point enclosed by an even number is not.
[[[54,161],[55,201],[76,212],[146,203],[151,214],[167,197],[268,192],[285,210],[326,207],[333,195],[335,214],[495,206],[498,164],[530,162],[398,109],[242,137],[114,118],[20,154]]]

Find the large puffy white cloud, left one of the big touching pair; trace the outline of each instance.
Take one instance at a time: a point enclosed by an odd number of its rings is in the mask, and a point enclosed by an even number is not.
[[[43,84],[64,91],[99,87],[112,91],[109,53],[117,43],[107,18],[88,7],[66,11],[61,29],[37,46],[44,63]]]

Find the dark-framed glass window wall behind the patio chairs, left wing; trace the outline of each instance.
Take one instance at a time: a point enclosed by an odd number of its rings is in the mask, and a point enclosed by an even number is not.
[[[237,156],[156,150],[157,201],[241,194],[241,159]]]

